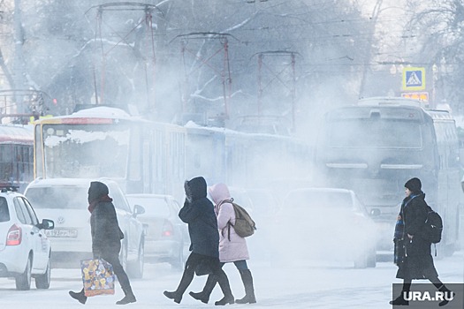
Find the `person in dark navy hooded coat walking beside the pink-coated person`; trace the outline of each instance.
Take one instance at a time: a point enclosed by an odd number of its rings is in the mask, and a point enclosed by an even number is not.
[[[164,291],[164,296],[180,303],[186,288],[194,279],[195,269],[205,265],[211,274],[217,277],[217,282],[224,293],[224,298],[215,305],[233,304],[234,298],[227,275],[219,262],[219,231],[214,206],[207,198],[207,185],[203,177],[194,177],[184,184],[186,201],[179,211],[179,218],[188,224],[190,235],[190,255],[177,290]]]

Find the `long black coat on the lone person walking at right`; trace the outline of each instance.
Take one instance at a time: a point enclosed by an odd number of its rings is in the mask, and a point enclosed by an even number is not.
[[[405,224],[403,262],[399,264],[397,278],[429,279],[438,276],[433,264],[430,241],[422,237],[422,229],[430,207],[425,202],[425,193],[419,192],[407,197],[401,213]],[[400,213],[400,215],[401,215]],[[407,234],[413,235],[412,239]]]

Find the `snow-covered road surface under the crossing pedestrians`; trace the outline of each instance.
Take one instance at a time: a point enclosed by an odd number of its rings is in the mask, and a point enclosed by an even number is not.
[[[464,254],[457,252],[451,258],[436,260],[440,278],[445,283],[463,283]],[[302,265],[289,261],[286,266],[272,267],[264,260],[250,260],[249,267],[255,276],[258,303],[253,308],[392,308],[392,283],[396,266],[392,262],[378,262],[377,268],[354,269],[349,264],[312,262]],[[240,276],[233,265],[226,264],[232,291],[236,298],[243,296]],[[208,305],[191,298],[189,290],[202,290],[205,276],[195,277],[180,305],[163,295],[164,290],[174,290],[181,273],[172,271],[168,264],[146,264],[141,280],[133,280],[137,303],[133,308],[205,308],[214,306],[222,297],[217,287]],[[33,283],[34,285],[34,283]],[[54,269],[49,290],[17,291],[14,281],[0,279],[0,304],[2,308],[82,308],[68,296],[68,290],[80,290],[79,269]],[[117,307],[122,298],[117,287],[114,296],[89,298],[86,308]],[[246,305],[233,305],[245,307]],[[118,306],[119,307],[119,306]]]

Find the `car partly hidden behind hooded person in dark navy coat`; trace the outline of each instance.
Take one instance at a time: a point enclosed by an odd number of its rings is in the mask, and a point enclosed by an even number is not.
[[[163,194],[126,194],[126,198],[132,207],[145,208],[139,216],[147,228],[145,259],[183,268],[190,238],[186,223],[179,219],[179,202]]]

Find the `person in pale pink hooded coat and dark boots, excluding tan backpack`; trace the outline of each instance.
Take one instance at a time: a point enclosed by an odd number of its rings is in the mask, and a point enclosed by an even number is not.
[[[229,188],[224,184],[212,185],[208,188],[209,196],[215,203],[215,212],[217,215],[217,227],[219,229],[219,260],[221,267],[224,263],[233,262],[239,270],[241,280],[245,287],[245,297],[236,299],[237,304],[255,304],[255,288],[253,285],[253,276],[247,267],[249,259],[247,240],[240,237],[234,230],[233,225],[236,222],[235,210],[232,205],[232,198]],[[208,304],[209,296],[216,285],[214,275],[209,275],[208,280],[201,292],[190,292],[190,296]]]

